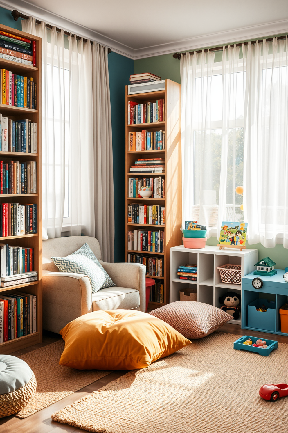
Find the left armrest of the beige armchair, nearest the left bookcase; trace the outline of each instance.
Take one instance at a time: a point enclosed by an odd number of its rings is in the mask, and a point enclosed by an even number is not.
[[[43,270],[43,328],[55,333],[71,320],[92,311],[90,278]]]

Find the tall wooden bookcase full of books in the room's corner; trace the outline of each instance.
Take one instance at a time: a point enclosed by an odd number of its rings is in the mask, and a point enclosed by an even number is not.
[[[157,308],[169,301],[169,248],[182,239],[180,85],[166,80],[165,90],[146,91],[143,83],[139,94],[126,87],[125,259],[156,278],[149,308]]]

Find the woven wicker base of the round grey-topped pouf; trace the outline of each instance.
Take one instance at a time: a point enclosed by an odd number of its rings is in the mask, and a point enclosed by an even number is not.
[[[0,418],[16,414],[23,409],[36,392],[37,382],[34,374],[26,385],[8,394],[0,394]]]

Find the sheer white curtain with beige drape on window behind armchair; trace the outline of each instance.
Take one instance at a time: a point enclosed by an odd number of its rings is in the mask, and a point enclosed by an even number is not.
[[[35,19],[42,38],[43,227],[49,238],[95,236],[113,261],[114,193],[107,48]]]

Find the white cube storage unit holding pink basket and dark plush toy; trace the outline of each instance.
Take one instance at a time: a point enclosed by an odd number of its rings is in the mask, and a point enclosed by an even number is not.
[[[229,263],[241,265],[241,278],[253,272],[257,262],[256,249],[219,249],[217,246],[206,245],[205,248],[184,248],[183,245],[170,248],[170,302],[180,301],[180,289],[197,289],[197,301],[220,308],[219,297],[228,291],[241,294],[241,284],[222,283],[219,266]],[[181,265],[197,264],[197,281],[180,280],[177,275]],[[241,324],[238,320],[229,323]]]

